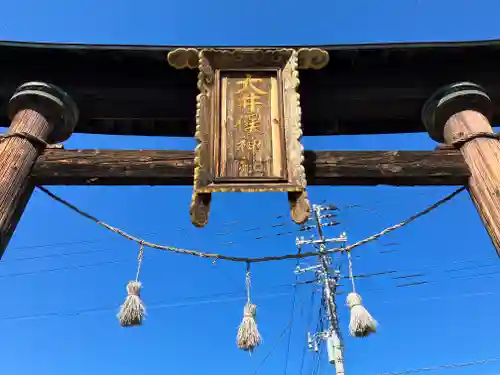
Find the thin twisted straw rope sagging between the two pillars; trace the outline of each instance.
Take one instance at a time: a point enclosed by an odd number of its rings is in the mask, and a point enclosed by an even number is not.
[[[128,239],[128,240],[135,241],[135,242],[137,242],[139,244],[143,244],[144,246],[151,247],[153,249],[171,251],[171,252],[178,253],[178,254],[193,255],[193,256],[197,256],[197,257],[201,257],[201,258],[228,260],[228,261],[232,261],[232,262],[245,262],[245,263],[270,262],[270,261],[278,261],[278,260],[285,260],[285,259],[300,259],[300,258],[316,257],[318,255],[325,255],[325,254],[335,253],[335,252],[339,252],[339,251],[349,251],[349,250],[352,250],[352,249],[354,249],[356,247],[364,245],[364,244],[366,244],[368,242],[377,240],[380,237],[386,235],[387,233],[390,233],[390,232],[392,232],[392,231],[394,231],[394,230],[396,230],[398,228],[401,228],[401,227],[403,227],[403,226],[411,223],[412,221],[418,219],[419,217],[428,214],[429,212],[433,211],[437,207],[439,207],[442,204],[448,202],[449,200],[451,200],[452,198],[454,198],[456,195],[458,195],[459,193],[461,193],[462,191],[465,190],[465,187],[461,187],[458,190],[455,190],[453,193],[449,194],[448,196],[444,197],[443,199],[437,201],[433,205],[427,207],[425,210],[420,211],[419,213],[417,213],[417,214],[411,216],[410,218],[406,219],[405,221],[402,221],[401,223],[393,225],[392,227],[386,228],[386,229],[384,229],[383,231],[381,231],[381,232],[379,232],[377,234],[374,234],[374,235],[372,235],[370,237],[367,237],[367,238],[365,238],[365,239],[363,239],[361,241],[358,241],[358,242],[356,242],[356,243],[354,243],[352,245],[346,246],[346,247],[338,247],[338,248],[333,248],[333,249],[329,249],[329,250],[325,250],[325,251],[309,251],[309,252],[304,252],[304,253],[294,253],[294,254],[286,254],[286,255],[266,256],[266,257],[261,257],[261,258],[247,258],[247,257],[236,257],[236,256],[214,254],[214,253],[204,253],[204,252],[199,252],[199,251],[195,251],[195,250],[179,249],[179,248],[172,247],[172,246],[158,245],[158,244],[155,244],[155,243],[152,243],[152,242],[148,242],[148,241],[142,240],[140,238],[134,237],[134,236],[132,236],[132,235],[130,235],[130,234],[122,231],[121,229],[112,227],[111,225],[106,224],[105,222],[97,219],[96,217],[94,217],[94,216],[92,216],[92,215],[90,215],[90,214],[88,214],[88,213],[80,210],[79,208],[75,207],[71,203],[65,201],[64,199],[62,199],[62,198],[58,197],[57,195],[55,195],[54,193],[50,192],[45,187],[43,187],[43,186],[37,186],[37,187],[42,192],[44,192],[45,194],[47,194],[49,197],[51,197],[52,199],[56,200],[57,202],[65,205],[66,207],[68,207],[69,209],[73,210],[74,212],[76,212],[76,213],[78,213],[78,214],[86,217],[89,220],[92,220],[96,224],[99,224],[99,225],[103,226],[104,228],[106,228],[106,229],[108,229],[108,230],[110,230],[110,231],[112,231],[112,232],[114,232],[114,233],[116,233],[116,234],[118,234],[118,235],[120,235],[120,236]]]

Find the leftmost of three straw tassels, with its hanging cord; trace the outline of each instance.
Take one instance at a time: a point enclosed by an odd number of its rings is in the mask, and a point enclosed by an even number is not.
[[[131,280],[127,284],[127,298],[120,308],[118,319],[122,327],[139,326],[146,315],[146,308],[141,300],[141,287],[139,274],[141,271],[142,257],[144,255],[144,245],[141,244],[139,255],[137,257],[138,266],[135,280]]]

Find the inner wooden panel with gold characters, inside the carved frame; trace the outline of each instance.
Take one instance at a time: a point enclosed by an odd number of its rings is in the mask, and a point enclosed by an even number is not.
[[[287,182],[278,74],[221,73],[220,87],[215,183],[248,186],[254,182]]]

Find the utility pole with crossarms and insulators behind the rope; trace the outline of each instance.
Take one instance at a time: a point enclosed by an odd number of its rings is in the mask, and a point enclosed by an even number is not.
[[[335,206],[313,205],[312,217],[310,220],[315,221],[315,225],[310,225],[307,229],[316,228],[317,238],[314,236],[311,240],[305,240],[303,237],[296,239],[296,245],[301,248],[303,245],[313,245],[319,248],[320,252],[327,250],[328,243],[341,243],[345,245],[347,242],[346,233],[342,233],[337,238],[326,238],[323,232],[324,227],[338,225],[335,220],[323,223],[323,219],[335,218],[337,215],[331,211],[338,210]],[[318,256],[318,264],[311,267],[300,268],[297,266],[295,272],[297,274],[313,271],[316,273],[316,280],[322,286],[324,301],[326,304],[326,311],[328,314],[329,327],[326,331],[316,332],[311,334],[308,332],[308,345],[309,349],[313,351],[319,350],[319,343],[321,340],[326,341],[328,349],[328,360],[335,366],[336,375],[344,375],[344,359],[342,354],[342,340],[339,331],[337,307],[335,304],[335,294],[337,289],[337,282],[340,272],[338,269],[333,268],[332,257],[325,253]]]

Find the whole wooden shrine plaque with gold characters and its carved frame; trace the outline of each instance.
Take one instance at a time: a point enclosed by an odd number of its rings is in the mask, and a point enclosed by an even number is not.
[[[194,225],[207,224],[213,192],[288,192],[293,221],[309,218],[298,69],[321,69],[328,59],[318,48],[179,48],[168,54],[171,66],[199,71]]]

